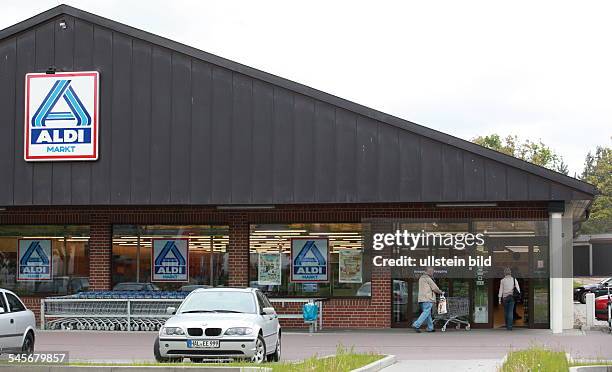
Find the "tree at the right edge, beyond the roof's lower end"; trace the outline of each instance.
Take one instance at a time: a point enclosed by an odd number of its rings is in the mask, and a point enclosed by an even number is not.
[[[597,147],[586,156],[582,180],[595,185],[599,194],[591,205],[589,219],[582,224],[581,234],[612,232],[612,147]]]

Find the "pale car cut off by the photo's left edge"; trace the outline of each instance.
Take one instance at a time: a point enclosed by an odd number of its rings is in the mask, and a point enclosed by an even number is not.
[[[0,288],[0,353],[34,352],[36,318],[17,295]]]

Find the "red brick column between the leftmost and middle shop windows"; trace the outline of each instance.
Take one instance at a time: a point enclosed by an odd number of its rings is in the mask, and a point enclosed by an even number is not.
[[[89,288],[111,289],[112,225],[106,213],[91,215],[89,238]]]

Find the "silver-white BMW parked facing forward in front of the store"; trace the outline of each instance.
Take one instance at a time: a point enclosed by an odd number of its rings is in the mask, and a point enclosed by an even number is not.
[[[153,346],[158,362],[281,357],[281,327],[266,296],[255,288],[199,288],[185,298],[159,330]]]

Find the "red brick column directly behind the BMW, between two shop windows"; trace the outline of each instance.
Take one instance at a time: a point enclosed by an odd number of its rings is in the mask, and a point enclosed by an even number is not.
[[[228,254],[230,287],[248,287],[249,222],[246,214],[230,215]]]

